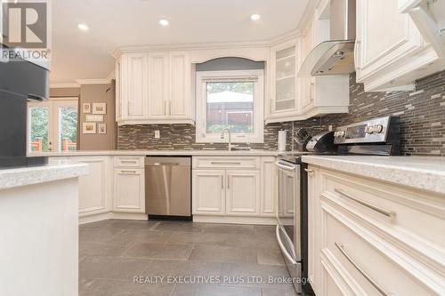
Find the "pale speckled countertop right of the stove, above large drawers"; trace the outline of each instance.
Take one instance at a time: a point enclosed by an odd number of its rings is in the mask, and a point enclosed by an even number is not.
[[[445,194],[445,157],[303,156],[303,162]]]

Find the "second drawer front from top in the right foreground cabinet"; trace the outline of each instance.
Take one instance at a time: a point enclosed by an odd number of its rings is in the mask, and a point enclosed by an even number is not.
[[[392,247],[321,200],[322,261],[336,262],[336,270],[360,295],[437,295],[392,253]],[[416,271],[414,271],[416,272]],[[323,279],[327,286],[328,279]],[[438,290],[436,290],[437,292]],[[325,295],[330,295],[325,291]]]

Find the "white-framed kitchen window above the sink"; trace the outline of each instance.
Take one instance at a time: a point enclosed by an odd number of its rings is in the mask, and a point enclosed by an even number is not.
[[[263,142],[263,70],[197,72],[197,142]]]

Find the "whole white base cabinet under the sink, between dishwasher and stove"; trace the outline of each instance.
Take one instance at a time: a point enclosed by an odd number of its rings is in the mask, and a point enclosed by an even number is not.
[[[194,157],[193,215],[275,217],[274,163],[275,157]]]

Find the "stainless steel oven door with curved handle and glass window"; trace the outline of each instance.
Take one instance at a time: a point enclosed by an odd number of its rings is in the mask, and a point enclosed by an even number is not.
[[[280,160],[275,166],[279,183],[277,241],[290,276],[299,278],[301,277],[300,164]],[[301,286],[295,283],[295,290],[301,292]]]

